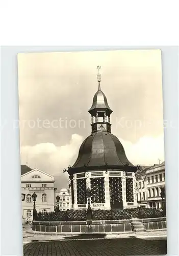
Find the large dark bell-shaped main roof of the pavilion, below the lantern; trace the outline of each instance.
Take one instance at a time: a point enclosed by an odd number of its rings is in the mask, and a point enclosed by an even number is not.
[[[127,159],[118,138],[111,133],[96,132],[82,143],[79,156],[69,170],[69,174],[104,168],[126,169],[126,164],[128,171],[136,170]]]

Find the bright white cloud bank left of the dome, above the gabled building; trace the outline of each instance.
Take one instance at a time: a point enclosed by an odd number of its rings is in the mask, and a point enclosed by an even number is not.
[[[78,156],[83,137],[72,134],[68,144],[56,146],[54,143],[40,143],[34,146],[21,147],[21,164],[26,164],[31,168],[39,168],[44,172],[57,177],[56,186],[66,187],[67,174],[63,174],[63,169],[73,164]]]

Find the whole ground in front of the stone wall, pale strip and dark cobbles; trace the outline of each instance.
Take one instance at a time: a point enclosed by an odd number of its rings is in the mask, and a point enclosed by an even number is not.
[[[24,256],[166,255],[166,231],[49,236],[23,228]]]

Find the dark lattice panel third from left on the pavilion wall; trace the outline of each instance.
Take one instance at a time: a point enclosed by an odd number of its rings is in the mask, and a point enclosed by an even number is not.
[[[110,187],[110,203],[112,205],[117,205],[120,203],[122,205],[122,180],[120,177],[110,177],[109,178]]]

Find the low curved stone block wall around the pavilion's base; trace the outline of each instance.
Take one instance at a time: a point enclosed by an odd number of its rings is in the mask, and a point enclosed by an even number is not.
[[[166,229],[166,218],[135,219],[146,231]],[[90,223],[90,224],[89,224]],[[133,232],[134,219],[109,221],[33,221],[32,230],[42,233],[116,233]]]

